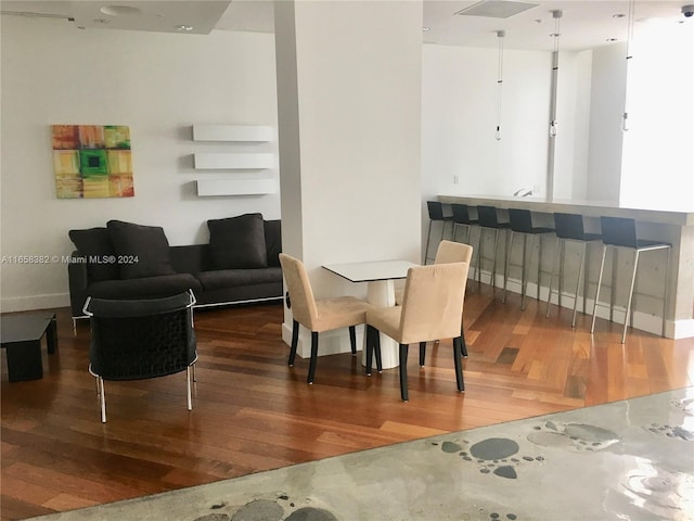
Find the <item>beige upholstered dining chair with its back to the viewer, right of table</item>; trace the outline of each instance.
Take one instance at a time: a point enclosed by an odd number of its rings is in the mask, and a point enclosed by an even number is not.
[[[455,381],[460,392],[465,390],[461,361],[461,331],[468,269],[468,263],[432,264],[410,268],[404,283],[402,305],[367,312],[367,374],[371,374],[374,351],[376,363],[381,359],[378,332],[387,334],[400,344],[400,395],[404,402],[408,401],[408,348],[409,344],[415,342],[420,343],[422,354],[426,342],[453,339]]]

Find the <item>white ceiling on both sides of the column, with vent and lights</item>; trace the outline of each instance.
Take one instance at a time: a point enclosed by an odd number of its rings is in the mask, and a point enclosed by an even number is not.
[[[299,0],[301,1],[301,0]],[[634,34],[651,23],[694,24],[682,15],[690,0],[633,1]],[[694,3],[694,0],[691,0]],[[8,1],[2,0],[3,15],[36,18],[64,18],[83,29],[129,29],[206,35],[213,29],[272,33],[270,0],[232,1]],[[529,7],[509,17],[496,17],[497,8]],[[568,1],[460,1],[424,0],[422,39],[427,43],[467,47],[497,47],[498,31],[505,33],[506,49],[552,50],[557,31],[560,49],[582,50],[626,40],[630,0]],[[457,14],[460,11],[490,9],[489,15]],[[485,14],[485,13],[483,13]],[[618,15],[624,15],[618,17]],[[68,21],[68,18],[72,18]]]

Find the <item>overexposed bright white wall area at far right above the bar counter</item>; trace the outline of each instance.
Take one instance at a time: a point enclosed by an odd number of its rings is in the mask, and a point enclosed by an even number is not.
[[[619,202],[694,208],[694,26],[648,29],[629,63]]]

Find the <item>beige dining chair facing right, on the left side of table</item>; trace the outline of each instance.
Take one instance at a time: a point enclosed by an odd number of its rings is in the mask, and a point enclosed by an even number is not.
[[[294,366],[299,339],[299,323],[311,331],[311,359],[308,367],[308,383],[313,383],[318,359],[318,335],[324,331],[349,328],[349,341],[352,355],[357,354],[356,326],[365,323],[365,313],[371,304],[355,296],[337,296],[316,300],[311,282],[304,263],[285,253],[280,254],[280,265],[290,294],[290,304],[294,317],[292,323],[292,346],[290,367]]]

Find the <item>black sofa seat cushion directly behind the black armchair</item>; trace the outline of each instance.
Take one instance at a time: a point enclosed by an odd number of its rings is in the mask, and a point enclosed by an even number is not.
[[[193,290],[202,293],[202,287],[190,274],[163,275],[128,280],[103,280],[89,287],[89,296],[98,298],[158,298]]]

